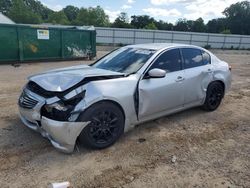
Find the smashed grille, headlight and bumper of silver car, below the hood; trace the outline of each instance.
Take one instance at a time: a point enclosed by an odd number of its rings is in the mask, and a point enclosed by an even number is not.
[[[58,150],[71,153],[75,142],[88,122],[76,122],[79,113],[75,109],[84,107],[85,90],[64,98],[64,93],[49,92],[30,81],[19,98],[22,122],[41,133]]]

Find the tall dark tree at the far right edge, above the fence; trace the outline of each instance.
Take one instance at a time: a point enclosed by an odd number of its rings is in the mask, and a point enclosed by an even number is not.
[[[242,1],[226,8],[223,14],[233,34],[250,34],[250,2]]]

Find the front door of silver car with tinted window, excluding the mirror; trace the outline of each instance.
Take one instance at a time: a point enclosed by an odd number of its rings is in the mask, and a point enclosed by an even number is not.
[[[182,58],[180,49],[163,52],[148,69],[165,70],[164,78],[145,77],[139,82],[139,119],[177,109],[184,103]]]

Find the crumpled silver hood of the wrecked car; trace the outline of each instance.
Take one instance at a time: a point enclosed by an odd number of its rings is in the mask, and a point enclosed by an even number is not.
[[[88,65],[79,65],[36,74],[29,77],[29,80],[35,82],[47,91],[62,92],[78,84],[84,78],[113,75],[123,74],[90,67]]]

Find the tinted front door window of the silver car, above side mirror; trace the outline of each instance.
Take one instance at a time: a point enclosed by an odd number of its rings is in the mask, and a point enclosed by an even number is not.
[[[166,72],[174,72],[181,70],[181,55],[179,49],[168,50],[156,59],[151,69],[158,68]]]

